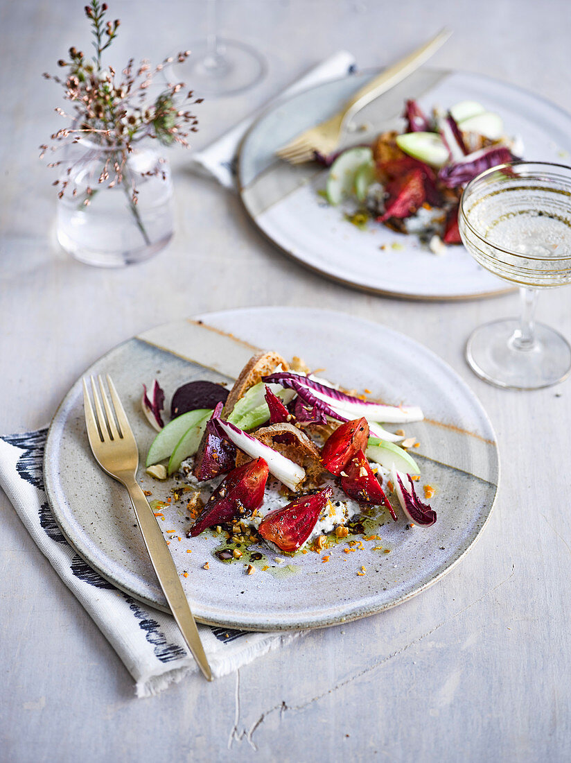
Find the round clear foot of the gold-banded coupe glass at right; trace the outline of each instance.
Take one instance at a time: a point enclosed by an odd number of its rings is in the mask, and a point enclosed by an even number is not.
[[[544,324],[535,324],[534,342],[520,349],[519,328],[515,319],[477,328],[466,345],[471,369],[484,381],[511,389],[540,389],[563,381],[571,369],[566,339]]]

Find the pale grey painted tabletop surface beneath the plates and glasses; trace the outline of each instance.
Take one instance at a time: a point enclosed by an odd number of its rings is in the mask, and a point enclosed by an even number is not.
[[[0,6],[0,431],[46,423],[87,365],[155,324],[311,302],[403,330],[450,362],[496,427],[502,485],[475,549],[421,596],[318,630],[239,675],[209,685],[196,677],[152,700],[133,698],[127,671],[2,497],[0,759],[568,760],[571,388],[497,390],[462,356],[470,328],[514,314],[517,297],[419,304],[333,285],[274,252],[236,198],[184,171],[184,153],[172,154],[178,235],[168,250],[124,271],[70,262],[51,244],[52,178],[37,161],[37,145],[59,125],[59,92],[39,74],[69,45],[87,46],[81,7]],[[204,24],[199,2],[114,2],[111,12],[123,21],[119,63],[158,58],[178,47],[184,25],[201,33]],[[455,34],[435,66],[571,102],[566,0],[226,0],[223,16],[226,31],[264,51],[270,74],[252,92],[204,104],[196,146],[333,50],[380,65],[444,23]],[[569,289],[543,295],[539,317],[569,337]]]

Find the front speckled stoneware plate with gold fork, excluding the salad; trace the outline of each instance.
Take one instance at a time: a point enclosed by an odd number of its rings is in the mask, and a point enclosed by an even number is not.
[[[213,555],[218,547],[213,536],[185,537],[187,513],[175,504],[160,525],[181,575],[188,572],[181,580],[197,619],[258,630],[332,625],[393,607],[441,578],[483,530],[496,496],[499,462],[482,406],[422,345],[342,313],[263,307],[147,331],[112,349],[88,373],[111,374],[144,462],[154,430],[140,410],[143,381],[158,378],[169,401],[175,388],[191,379],[231,381],[258,348],[275,349],[287,359],[301,356],[345,388],[421,405],[425,420],[406,430],[420,442],[415,457],[423,482],[437,488],[431,504],[438,521],[428,529],[407,530],[404,518],[393,522],[383,516],[377,530],[381,541],[363,542],[362,550],[345,553],[342,543],[328,551],[327,563],[308,552],[288,560],[290,566],[268,552],[256,562],[255,574],[245,575],[242,560],[225,564]],[[168,496],[175,484],[147,478],[143,468],[139,478],[156,498]],[[127,493],[91,456],[81,380],[53,419],[45,480],[54,516],[77,552],[117,588],[165,608]],[[365,575],[357,574],[361,565]]]

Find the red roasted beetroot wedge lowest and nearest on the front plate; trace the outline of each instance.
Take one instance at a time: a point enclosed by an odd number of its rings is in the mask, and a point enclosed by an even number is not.
[[[331,488],[296,498],[283,509],[277,509],[261,520],[258,533],[278,549],[293,554],[310,537],[319,514],[332,497]]]

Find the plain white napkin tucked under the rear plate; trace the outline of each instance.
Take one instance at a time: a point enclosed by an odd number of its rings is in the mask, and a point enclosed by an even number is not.
[[[281,95],[274,98],[270,103],[274,103],[278,98],[295,95],[297,92],[306,90],[313,85],[319,85],[320,82],[326,82],[328,79],[352,74],[355,71],[355,60],[347,50],[339,50],[326,60],[314,66],[309,72],[286,88]],[[260,110],[261,111],[261,110]],[[214,143],[210,143],[207,148],[191,154],[191,169],[197,169],[201,174],[211,175],[220,182],[225,188],[236,189],[234,179],[236,168],[236,152],[238,146],[245,136],[249,127],[254,123],[260,111],[243,119],[236,127],[233,127]]]

